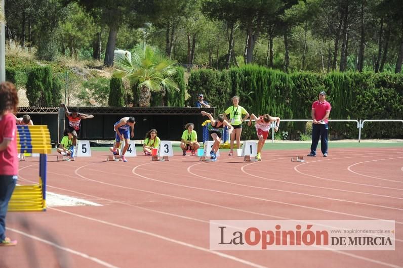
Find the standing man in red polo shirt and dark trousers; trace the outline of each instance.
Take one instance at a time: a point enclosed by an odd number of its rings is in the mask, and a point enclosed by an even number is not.
[[[312,145],[308,156],[316,156],[316,147],[320,136],[320,150],[324,157],[328,156],[328,119],[332,106],[326,100],[326,93],[319,92],[319,100],[312,103]]]

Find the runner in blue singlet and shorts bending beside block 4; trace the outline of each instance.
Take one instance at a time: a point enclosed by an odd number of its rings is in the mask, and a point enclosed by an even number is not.
[[[117,148],[120,147],[120,141],[125,139],[125,147],[123,148],[122,151],[122,160],[123,162],[127,162],[128,160],[125,158],[125,153],[127,149],[129,148],[130,144],[130,138],[134,137],[134,124],[136,123],[136,120],[134,119],[133,116],[131,117],[123,117],[119,121],[117,121],[113,129],[116,132],[116,143],[113,145],[113,147],[110,147],[110,151],[115,155],[117,154]],[[130,133],[130,128],[132,129]]]

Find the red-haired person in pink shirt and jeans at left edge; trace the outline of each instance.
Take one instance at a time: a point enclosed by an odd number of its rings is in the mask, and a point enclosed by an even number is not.
[[[6,237],[6,213],[17,183],[17,112],[18,96],[15,85],[0,83],[0,246],[15,246],[16,240]]]

